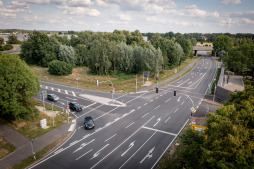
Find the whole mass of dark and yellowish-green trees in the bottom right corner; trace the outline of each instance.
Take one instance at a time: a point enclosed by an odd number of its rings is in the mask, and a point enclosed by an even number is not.
[[[165,168],[254,168],[254,86],[232,94],[209,115],[207,140],[188,130]]]

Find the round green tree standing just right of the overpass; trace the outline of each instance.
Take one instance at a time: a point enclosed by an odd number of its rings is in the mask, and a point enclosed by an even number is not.
[[[228,52],[233,46],[231,38],[227,35],[219,35],[216,37],[213,43],[213,49],[215,52],[220,52],[222,50]]]

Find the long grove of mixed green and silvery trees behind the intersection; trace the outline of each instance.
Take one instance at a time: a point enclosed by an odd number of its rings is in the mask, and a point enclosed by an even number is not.
[[[160,36],[148,43],[138,30],[84,31],[71,35],[70,39],[33,31],[21,46],[21,58],[29,64],[48,67],[50,62],[58,60],[71,66],[87,66],[94,74],[143,71],[155,74],[179,65],[188,57],[192,57],[190,39],[181,35],[170,40]]]

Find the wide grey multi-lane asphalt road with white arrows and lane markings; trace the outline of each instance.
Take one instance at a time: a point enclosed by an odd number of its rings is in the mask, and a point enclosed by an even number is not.
[[[191,108],[200,105],[215,72],[215,61],[204,57],[187,75],[160,87],[159,93],[115,94],[126,106],[81,96],[111,98],[110,93],[42,82],[43,89],[60,97],[55,105],[66,107],[76,101],[84,109],[73,112],[77,122],[73,135],[31,168],[155,168],[189,122]],[[84,129],[85,116],[93,117],[95,129]]]

